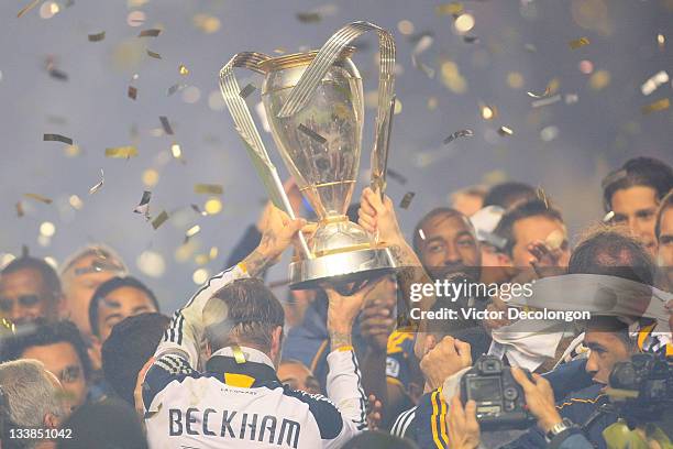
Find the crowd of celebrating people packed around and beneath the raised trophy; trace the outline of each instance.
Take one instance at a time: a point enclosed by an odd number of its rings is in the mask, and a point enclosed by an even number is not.
[[[390,198],[365,188],[347,216],[389,249],[395,273],[282,298],[265,273],[315,225],[269,204],[170,317],[103,244],[59,273],[24,253],[0,273],[0,447],[671,447],[671,401],[629,426],[605,410],[619,363],[673,361],[673,315],[652,311],[673,314],[673,169],[632,158],[602,188],[605,210],[572,244],[553,198],[525,183],[457,191],[410,239]],[[297,186],[286,189],[299,211]],[[412,284],[444,280],[536,287],[528,306],[504,288],[409,300]],[[608,281],[625,287],[606,294]],[[565,304],[591,318],[539,327],[506,313]],[[417,320],[413,307],[494,314]],[[482,429],[461,396],[484,354],[511,368],[526,428]]]

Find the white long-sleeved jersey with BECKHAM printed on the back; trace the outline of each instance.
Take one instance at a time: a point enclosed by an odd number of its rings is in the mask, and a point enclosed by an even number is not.
[[[202,372],[192,369],[202,335],[195,317],[214,292],[245,276],[240,266],[220,273],[173,318],[143,384],[151,448],[339,448],[366,428],[352,350],[328,355],[331,401],[283,385],[268,357],[251,348],[241,348],[243,363],[223,348]]]

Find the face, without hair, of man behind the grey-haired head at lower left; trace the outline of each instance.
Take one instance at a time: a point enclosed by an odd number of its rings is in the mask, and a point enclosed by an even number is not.
[[[22,359],[35,359],[44,363],[44,368],[56,375],[66,392],[68,409],[84,404],[87,398],[87,381],[81,360],[77,351],[68,342],[30,347],[21,354]]]

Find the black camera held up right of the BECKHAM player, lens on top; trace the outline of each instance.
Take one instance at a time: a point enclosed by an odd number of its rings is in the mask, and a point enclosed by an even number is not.
[[[530,373],[526,371],[530,377]],[[482,430],[527,429],[536,418],[526,408],[521,385],[493,355],[482,355],[461,379],[461,399],[476,402]]]

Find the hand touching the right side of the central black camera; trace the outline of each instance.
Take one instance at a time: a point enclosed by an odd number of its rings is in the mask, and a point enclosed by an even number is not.
[[[526,406],[538,418],[538,426],[544,432],[548,432],[555,424],[561,423],[562,418],[554,402],[554,391],[547,379],[533,373],[531,381],[518,366],[511,369],[511,375],[523,388]]]

